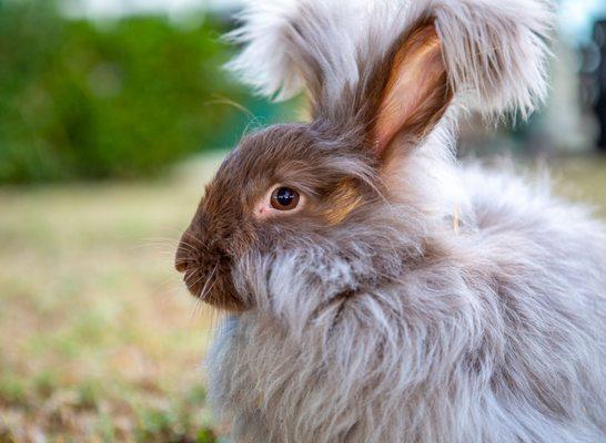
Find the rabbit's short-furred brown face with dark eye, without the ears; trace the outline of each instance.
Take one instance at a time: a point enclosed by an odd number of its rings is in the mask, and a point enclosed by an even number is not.
[[[279,125],[251,134],[228,156],[176,251],[192,295],[231,311],[250,308],[233,282],[236,260],[309,241],[374,198],[363,178],[365,150],[325,140],[313,126]]]

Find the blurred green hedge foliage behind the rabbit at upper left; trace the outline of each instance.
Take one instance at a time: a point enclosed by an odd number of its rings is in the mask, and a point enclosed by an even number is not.
[[[101,25],[0,0],[0,183],[150,176],[233,143],[248,117],[226,102],[261,102],[222,72],[223,32],[210,16]]]

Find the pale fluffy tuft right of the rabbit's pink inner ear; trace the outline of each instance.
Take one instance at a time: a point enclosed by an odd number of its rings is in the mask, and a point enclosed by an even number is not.
[[[545,0],[433,2],[452,84],[485,114],[527,117],[547,93],[546,41],[554,16]]]

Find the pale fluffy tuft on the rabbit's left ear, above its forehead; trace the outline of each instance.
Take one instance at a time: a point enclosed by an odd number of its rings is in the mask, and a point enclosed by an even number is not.
[[[362,2],[250,1],[243,25],[226,38],[245,44],[228,64],[241,80],[275,100],[286,100],[323,75],[332,97],[358,80],[356,28]],[[367,25],[367,23],[366,23]]]

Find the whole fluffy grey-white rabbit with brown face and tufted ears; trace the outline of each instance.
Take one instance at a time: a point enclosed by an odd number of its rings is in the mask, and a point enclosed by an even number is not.
[[[175,267],[226,319],[233,442],[606,441],[606,234],[545,182],[455,157],[546,95],[543,0],[251,2],[229,68],[310,123],[243,136]]]

